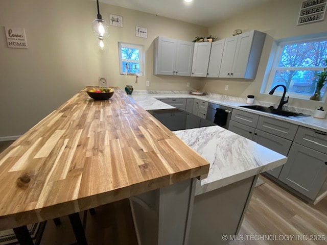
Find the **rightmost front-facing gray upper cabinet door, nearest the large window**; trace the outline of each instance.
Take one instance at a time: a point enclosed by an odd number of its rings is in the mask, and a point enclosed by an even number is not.
[[[254,31],[251,31],[242,33],[238,36],[235,56],[231,69],[233,78],[244,78],[250,56],[253,33]]]

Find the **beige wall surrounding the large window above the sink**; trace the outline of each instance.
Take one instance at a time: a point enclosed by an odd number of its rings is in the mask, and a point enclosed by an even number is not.
[[[254,80],[205,79],[206,83],[202,89],[204,91],[241,97],[246,97],[247,94],[254,94],[258,100],[278,103],[281,99],[280,96],[260,94],[273,40],[327,31],[326,17],[324,21],[304,24],[302,26],[296,25],[301,3],[302,0],[273,0],[269,4],[248,11],[242,15],[233,16],[209,28],[208,32],[219,38],[231,36],[232,32],[236,29],[242,29],[243,32],[258,30],[267,33],[267,37],[258,73]],[[228,91],[225,91],[225,85],[229,86]],[[309,109],[317,109],[318,106],[325,106],[327,108],[327,102],[322,103],[297,99],[290,99],[289,105]]]

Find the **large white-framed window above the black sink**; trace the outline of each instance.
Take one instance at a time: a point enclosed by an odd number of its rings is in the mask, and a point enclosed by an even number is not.
[[[297,38],[292,41],[277,42],[271,69],[266,71],[268,79],[262,92],[268,93],[274,86],[283,84],[287,95],[299,99],[309,99],[315,91],[316,74],[325,67],[327,58],[327,35],[319,38]],[[269,73],[269,74],[268,74]],[[321,92],[324,94],[326,85]],[[282,94],[283,88],[274,94]]]

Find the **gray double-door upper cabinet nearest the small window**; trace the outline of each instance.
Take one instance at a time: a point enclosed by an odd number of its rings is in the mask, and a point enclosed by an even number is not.
[[[191,76],[193,42],[157,37],[154,40],[154,75]]]

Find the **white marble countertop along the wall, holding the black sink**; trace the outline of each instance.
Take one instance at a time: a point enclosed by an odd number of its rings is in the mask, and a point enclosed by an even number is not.
[[[327,133],[327,119],[318,119],[313,116],[307,117],[298,117],[298,118],[289,118],[285,116],[274,115],[270,113],[265,113],[261,111],[255,111],[247,108],[243,108],[240,106],[246,105],[246,99],[240,97],[233,97],[228,95],[222,94],[215,94],[209,93],[207,95],[192,95],[189,94],[188,91],[146,91],[146,90],[139,90],[136,91],[134,94],[129,95],[131,98],[143,107],[145,110],[150,109],[170,109],[174,108],[166,103],[162,103],[156,99],[174,99],[174,98],[195,98],[202,101],[207,101],[210,103],[215,103],[223,106],[229,106],[233,109],[238,109],[242,111],[248,111],[254,114],[264,115],[271,118],[276,118],[283,121],[291,122],[292,124],[319,130],[322,132]],[[262,105],[262,106],[271,106],[273,104],[261,102],[261,101],[254,101],[254,105]],[[276,105],[274,105],[276,106]],[[312,110],[301,109],[296,107],[284,106],[286,110],[295,111],[303,114],[312,115]]]

